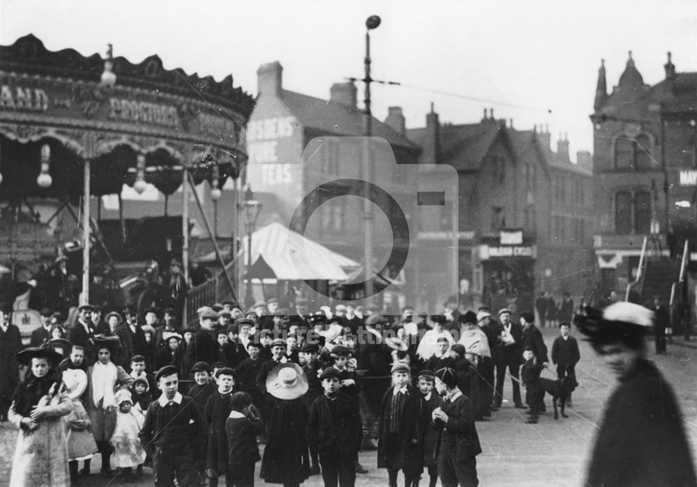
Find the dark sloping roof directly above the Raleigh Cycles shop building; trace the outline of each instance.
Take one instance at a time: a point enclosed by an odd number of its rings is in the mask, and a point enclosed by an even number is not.
[[[464,125],[441,125],[438,132],[441,141],[438,163],[450,164],[458,171],[478,171],[501,130],[505,130],[502,123],[484,121]],[[424,144],[427,133],[425,127],[409,129],[406,132],[416,144]]]

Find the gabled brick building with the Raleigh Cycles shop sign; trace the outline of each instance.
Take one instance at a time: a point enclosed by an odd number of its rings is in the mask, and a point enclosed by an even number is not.
[[[592,161],[569,158],[566,139],[550,148],[547,130],[515,130],[484,110],[480,123],[407,131],[421,162],[449,164],[459,176],[459,272],[465,305],[531,309],[545,290],[581,295],[592,270]],[[429,234],[427,238],[450,238]]]

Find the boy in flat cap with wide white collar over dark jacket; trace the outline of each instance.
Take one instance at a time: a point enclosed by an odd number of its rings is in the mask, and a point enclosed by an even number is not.
[[[151,450],[156,486],[199,485],[199,472],[194,464],[192,445],[200,444],[206,431],[198,406],[189,396],[177,391],[178,376],[174,366],[167,365],[155,374],[162,391],[145,415],[140,432],[141,444]]]

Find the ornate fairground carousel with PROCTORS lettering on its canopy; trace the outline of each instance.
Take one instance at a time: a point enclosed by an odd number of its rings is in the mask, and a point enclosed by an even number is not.
[[[95,275],[107,278],[121,261],[148,256],[162,267],[176,259],[186,279],[192,193],[200,205],[192,188],[208,181],[216,199],[238,177],[253,106],[231,75],[217,82],[165,70],[158,56],[131,63],[113,57],[111,45],[106,57],[51,52],[31,35],[0,46],[0,279],[1,270],[20,284],[37,272],[70,275],[52,286],[61,291],[45,292],[91,304]],[[150,185],[164,196],[164,215],[138,226],[123,214],[121,195]],[[175,193],[181,215],[167,217]],[[101,219],[105,195],[118,199],[117,224]]]

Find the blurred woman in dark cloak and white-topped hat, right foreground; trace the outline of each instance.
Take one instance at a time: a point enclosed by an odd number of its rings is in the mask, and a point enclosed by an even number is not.
[[[629,302],[585,311],[576,326],[619,383],[608,399],[584,484],[697,485],[680,405],[646,359],[645,336],[654,314]]]

